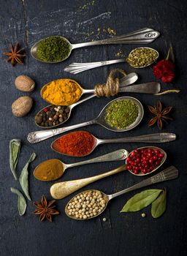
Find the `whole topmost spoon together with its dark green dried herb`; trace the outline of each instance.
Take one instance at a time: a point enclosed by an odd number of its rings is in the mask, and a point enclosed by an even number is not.
[[[110,37],[99,41],[82,42],[71,44],[65,37],[53,36],[46,37],[36,42],[31,48],[31,56],[38,61],[45,63],[57,63],[66,60],[73,49],[92,45],[109,44],[137,44],[153,42],[159,37],[159,32],[153,29],[140,29],[129,34],[123,34],[118,37]]]

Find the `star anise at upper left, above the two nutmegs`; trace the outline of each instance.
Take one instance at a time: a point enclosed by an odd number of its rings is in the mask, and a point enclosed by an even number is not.
[[[20,49],[19,42],[17,42],[15,46],[10,45],[10,49],[10,52],[3,53],[4,55],[9,56],[7,61],[10,61],[13,67],[16,63],[23,65],[23,58],[26,56],[25,54],[23,54],[24,48]]]

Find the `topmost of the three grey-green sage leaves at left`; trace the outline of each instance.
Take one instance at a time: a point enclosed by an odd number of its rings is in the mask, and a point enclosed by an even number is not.
[[[17,175],[15,173],[16,165],[18,164],[18,158],[20,155],[20,140],[12,139],[9,141],[9,167],[12,171],[15,180],[17,180]]]

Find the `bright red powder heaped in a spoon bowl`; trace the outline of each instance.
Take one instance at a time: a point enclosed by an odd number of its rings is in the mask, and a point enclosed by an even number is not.
[[[95,138],[90,132],[70,132],[55,140],[51,147],[62,154],[74,157],[83,157],[93,150]]]

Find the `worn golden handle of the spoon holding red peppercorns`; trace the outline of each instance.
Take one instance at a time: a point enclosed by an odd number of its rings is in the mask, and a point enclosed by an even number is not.
[[[121,165],[120,167],[114,170],[110,170],[107,173],[102,173],[97,176],[92,176],[90,178],[81,178],[75,181],[58,182],[50,187],[50,195],[55,199],[62,199],[77,191],[78,189],[81,189],[82,187],[85,187],[86,185],[92,183],[93,181],[97,181],[100,178],[105,178],[115,173],[120,173],[123,170],[126,170],[126,165]]]

